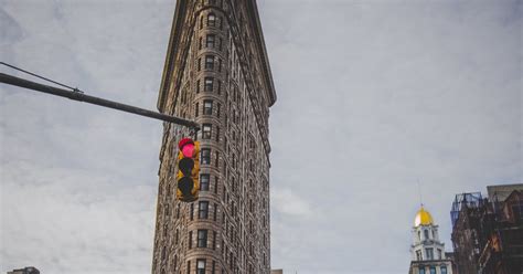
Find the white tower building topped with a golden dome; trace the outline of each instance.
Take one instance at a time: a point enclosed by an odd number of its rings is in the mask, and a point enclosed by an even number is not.
[[[409,274],[452,274],[452,262],[447,259],[445,244],[439,241],[438,225],[423,205],[414,219],[410,253]]]

